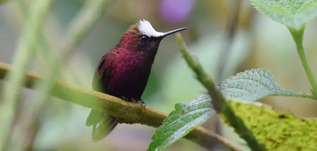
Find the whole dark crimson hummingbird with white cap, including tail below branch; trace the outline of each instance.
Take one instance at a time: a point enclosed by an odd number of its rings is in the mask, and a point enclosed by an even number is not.
[[[161,40],[185,29],[157,32],[145,19],[130,25],[115,47],[99,60],[93,76],[93,90],[145,107],[141,96]],[[93,142],[104,139],[117,125],[117,117],[96,110],[91,110],[86,120],[86,126],[93,126]]]

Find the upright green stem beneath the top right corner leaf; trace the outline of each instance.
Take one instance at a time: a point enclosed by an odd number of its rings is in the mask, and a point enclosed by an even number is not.
[[[317,96],[317,84],[316,81],[314,79],[314,75],[312,73],[312,71],[309,68],[308,62],[306,60],[306,56],[304,53],[304,47],[303,47],[303,35],[304,35],[304,30],[305,30],[305,24],[299,29],[293,29],[288,27],[289,32],[291,33],[293,40],[296,44],[296,49],[297,49],[297,53],[299,55],[299,58],[301,59],[301,64],[304,67],[306,76],[309,80],[310,85],[312,85],[313,88],[313,94],[314,96]]]

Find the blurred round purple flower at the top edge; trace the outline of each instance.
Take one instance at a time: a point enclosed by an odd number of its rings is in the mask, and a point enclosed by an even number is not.
[[[162,0],[160,15],[167,22],[184,22],[194,5],[195,0]]]

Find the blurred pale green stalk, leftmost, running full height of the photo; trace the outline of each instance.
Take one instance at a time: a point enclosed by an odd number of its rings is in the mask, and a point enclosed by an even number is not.
[[[21,103],[20,96],[25,80],[24,74],[30,58],[35,53],[37,33],[42,29],[50,3],[51,0],[35,0],[31,3],[29,19],[17,45],[13,58],[13,70],[8,75],[9,84],[4,87],[3,102],[0,105],[0,150],[6,150],[7,144],[10,143],[10,127],[14,124],[13,119],[16,117],[17,107]]]

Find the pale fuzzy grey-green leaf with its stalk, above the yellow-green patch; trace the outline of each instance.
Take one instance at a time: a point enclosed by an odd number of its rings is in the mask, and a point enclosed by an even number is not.
[[[314,98],[305,93],[281,90],[271,73],[266,69],[251,69],[231,76],[218,84],[225,96],[244,101],[256,101],[268,96],[292,96]]]

